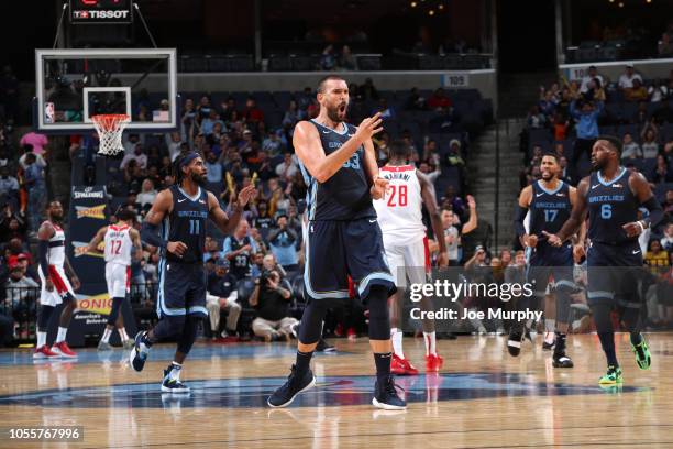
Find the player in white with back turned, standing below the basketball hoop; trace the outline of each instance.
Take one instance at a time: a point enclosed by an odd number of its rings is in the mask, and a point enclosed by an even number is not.
[[[135,212],[129,209],[120,209],[117,212],[117,225],[103,226],[98,230],[91,242],[87,247],[80,247],[79,252],[98,251],[100,242],[104,242],[106,256],[106,282],[108,284],[108,295],[112,298],[112,309],[108,316],[108,325],[102,338],[98,343],[99,351],[109,351],[110,336],[117,330],[119,338],[125,349],[133,347],[133,340],[126,335],[124,329],[124,318],[121,308],[129,293],[131,285],[131,254],[135,254],[135,260],[140,261],[143,256],[140,232],[133,229]]]

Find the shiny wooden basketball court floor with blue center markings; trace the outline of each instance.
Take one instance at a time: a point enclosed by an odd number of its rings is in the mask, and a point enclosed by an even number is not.
[[[617,340],[625,370],[618,390],[597,385],[604,363],[594,335],[569,339],[571,370],[551,366],[540,337],[518,359],[507,354],[506,337],[441,340],[439,374],[398,377],[406,412],[371,405],[366,339],[336,340],[336,353],[317,355],[317,387],[283,409],[265,401],[285,382],[291,343],[198,343],[185,371],[189,395],[159,390],[161,370],[173,357],[168,346],[153,350],[141,374],[120,349],[80,350],[77,361],[44,364],[33,364],[27,351],[2,352],[0,418],[4,428],[80,426],[84,440],[68,442],[77,448],[672,447],[671,336],[648,336],[650,371],[637,369],[627,335]],[[411,361],[422,361],[422,339],[405,344]],[[7,436],[0,445],[51,446]]]

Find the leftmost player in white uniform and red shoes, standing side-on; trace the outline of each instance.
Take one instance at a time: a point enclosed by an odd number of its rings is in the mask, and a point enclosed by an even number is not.
[[[77,354],[66,342],[66,333],[73,317],[73,310],[77,306],[73,286],[78,289],[80,283],[65,255],[65,232],[63,230],[63,206],[60,201],[52,201],[47,206],[47,221],[40,227],[37,239],[40,240],[38,274],[42,292],[40,293],[41,310],[37,319],[37,346],[33,359],[76,358]],[[73,281],[73,285],[66,276],[66,271]],[[54,308],[62,303],[63,310],[58,321],[58,335],[54,346],[49,349],[46,344],[49,318]]]

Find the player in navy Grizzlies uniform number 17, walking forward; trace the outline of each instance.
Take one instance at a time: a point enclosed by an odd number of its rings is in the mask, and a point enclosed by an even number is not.
[[[575,241],[574,248],[571,248],[570,242],[561,248],[554,248],[542,236],[542,231],[556,232],[561,229],[561,226],[570,217],[573,205],[577,201],[576,189],[559,179],[561,167],[556,154],[544,154],[540,162],[541,179],[525,187],[519,195],[515,229],[529,254],[528,282],[533,284],[533,296],[520,297],[517,307],[521,311],[539,309],[545,296],[549,278],[553,276],[553,296],[556,305],[556,343],[552,355],[552,364],[554,368],[572,368],[573,361],[565,353],[565,338],[569,329],[570,295],[575,288],[573,282],[573,251],[578,253],[584,251],[582,244],[584,227],[581,227],[580,237]],[[527,215],[529,215],[530,220],[528,231],[526,231],[523,225]],[[526,329],[521,322],[515,324],[509,329],[507,350],[511,355],[519,355],[525,333]]]

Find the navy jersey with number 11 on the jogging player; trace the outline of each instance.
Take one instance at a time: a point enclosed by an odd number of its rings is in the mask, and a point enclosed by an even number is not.
[[[181,258],[166,251],[169,262],[203,263],[206,221],[208,220],[208,191],[199,187],[196,197],[189,197],[177,185],[169,187],[173,210],[164,218],[162,237],[169,242],[183,242],[187,251]]]

